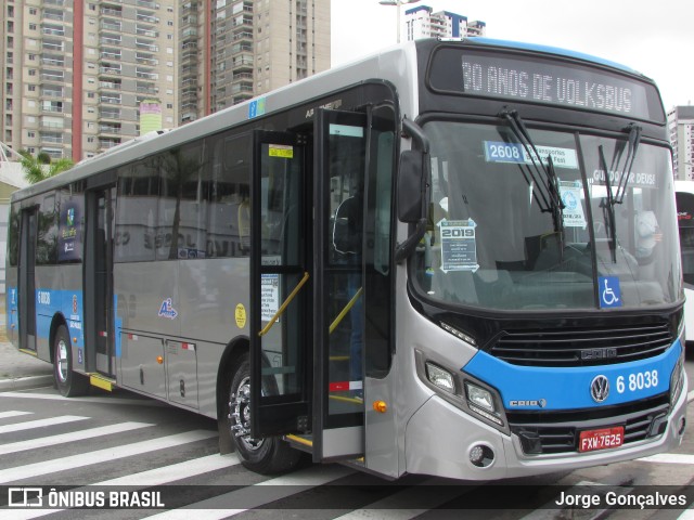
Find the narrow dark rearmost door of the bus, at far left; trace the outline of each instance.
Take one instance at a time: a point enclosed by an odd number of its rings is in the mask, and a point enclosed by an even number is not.
[[[22,212],[20,231],[20,348],[36,350],[37,208]]]

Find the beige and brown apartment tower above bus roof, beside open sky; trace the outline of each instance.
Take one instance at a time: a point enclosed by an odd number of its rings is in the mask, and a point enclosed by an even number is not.
[[[183,55],[181,122],[330,68],[330,0],[215,0],[207,23],[204,3],[197,3],[197,47],[206,56],[193,65]],[[183,46],[192,44],[188,37]],[[185,82],[194,75],[195,100]]]

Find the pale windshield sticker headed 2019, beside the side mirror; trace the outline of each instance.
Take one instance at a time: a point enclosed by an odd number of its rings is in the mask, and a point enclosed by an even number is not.
[[[441,243],[441,271],[472,271],[479,269],[473,219],[441,220],[438,224]]]

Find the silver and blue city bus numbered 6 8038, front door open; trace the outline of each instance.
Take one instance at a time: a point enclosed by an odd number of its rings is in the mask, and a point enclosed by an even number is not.
[[[685,428],[673,193],[643,75],[408,42],[16,192],[9,335],[63,395],[215,418],[260,473],[633,459]]]

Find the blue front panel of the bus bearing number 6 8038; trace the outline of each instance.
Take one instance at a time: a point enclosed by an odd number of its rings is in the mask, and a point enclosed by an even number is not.
[[[590,408],[667,392],[670,375],[681,353],[682,346],[678,340],[663,354],[647,360],[550,368],[512,365],[486,352],[478,352],[462,372],[497,388],[506,410]],[[590,391],[591,382],[599,375],[609,381],[609,395],[602,403],[593,401]]]

